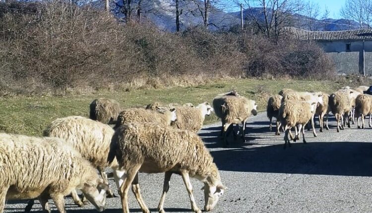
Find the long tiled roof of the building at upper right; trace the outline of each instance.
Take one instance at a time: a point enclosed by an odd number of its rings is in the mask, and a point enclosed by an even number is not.
[[[295,40],[372,40],[372,29],[342,30],[342,31],[309,31],[294,27],[284,27],[281,31],[283,38]]]

